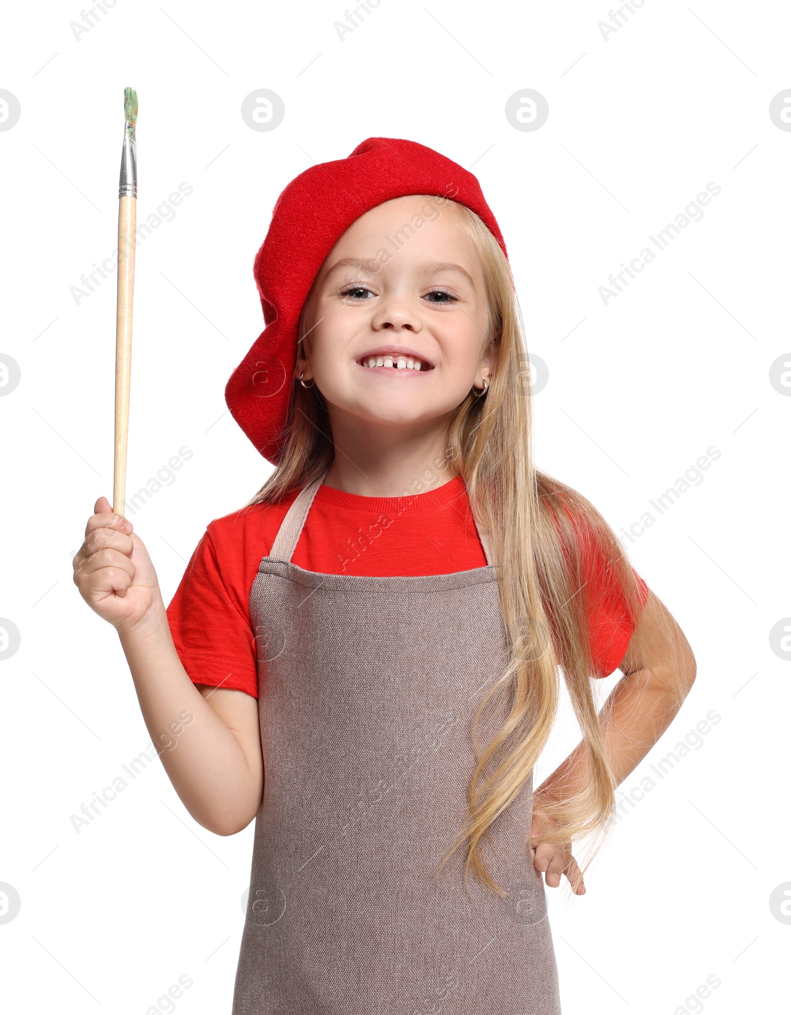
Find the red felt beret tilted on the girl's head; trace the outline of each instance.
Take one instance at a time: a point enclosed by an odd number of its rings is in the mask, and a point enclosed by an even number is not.
[[[415,141],[369,137],[348,158],[300,173],[278,198],[253,268],[265,330],[225,386],[231,415],[274,465],[285,445],[299,316],[318,269],[356,218],[409,194],[466,205],[507,254],[476,177]]]

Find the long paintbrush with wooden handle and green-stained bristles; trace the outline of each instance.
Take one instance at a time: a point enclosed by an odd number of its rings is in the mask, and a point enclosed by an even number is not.
[[[124,88],[124,147],[118,207],[118,303],[116,312],[116,458],[113,511],[124,515],[129,434],[129,382],[132,375],[132,298],[135,291],[137,229],[137,92]]]

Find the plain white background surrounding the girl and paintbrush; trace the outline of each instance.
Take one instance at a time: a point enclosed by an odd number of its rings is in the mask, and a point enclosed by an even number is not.
[[[540,468],[620,533],[721,451],[628,545],[687,633],[698,679],[622,790],[710,709],[721,721],[653,776],[583,898],[547,894],[564,1015],[779,1011],[791,926],[769,899],[791,881],[791,671],[770,630],[791,613],[791,399],[769,378],[791,359],[791,133],[769,104],[791,87],[791,12],[647,0],[606,41],[605,4],[581,0],[383,0],[341,41],[343,18],[340,3],[120,0],[77,41],[76,0],[5,11],[0,87],[21,118],[0,133],[0,352],[21,382],[0,398],[0,616],[21,646],[0,663],[0,882],[21,909],[0,925],[4,1008],[143,1015],[186,974],[176,1011],[227,1012],[243,923],[253,825],[206,831],[158,762],[79,834],[70,821],[150,739],[118,637],[71,565],[96,497],[113,495],[115,273],[79,303],[70,287],[116,246],[132,85],[138,222],[183,181],[194,188],[140,245],[135,279],[128,490],[194,452],[133,518],[166,603],[207,523],[271,470],[223,389],[263,327],[253,260],[275,200],[369,136],[420,141],[479,177],[528,350],[550,371],[535,398]],[[271,132],[240,116],[260,87],[285,104]],[[534,132],[504,114],[527,87],[550,108]],[[722,190],[705,217],[604,306],[597,287],[710,181]],[[573,742],[566,716],[544,767]],[[692,998],[712,974],[721,986]]]

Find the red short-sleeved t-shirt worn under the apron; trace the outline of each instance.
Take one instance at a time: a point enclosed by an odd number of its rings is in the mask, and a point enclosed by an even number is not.
[[[176,652],[195,683],[258,697],[249,592],[297,493],[279,504],[242,507],[207,526],[167,607]],[[321,485],[291,560],[325,574],[373,577],[447,574],[486,565],[460,476],[409,497],[366,497]],[[608,568],[588,555],[591,651],[600,677],[618,668],[633,631],[608,576]],[[645,601],[648,587],[638,580]]]

